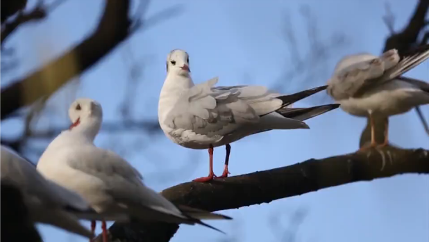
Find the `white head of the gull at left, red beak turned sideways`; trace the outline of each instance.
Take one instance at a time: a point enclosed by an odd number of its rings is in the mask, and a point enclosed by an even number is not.
[[[93,99],[78,98],[70,105],[69,118],[72,121],[71,131],[83,133],[94,140],[103,121],[103,109]]]

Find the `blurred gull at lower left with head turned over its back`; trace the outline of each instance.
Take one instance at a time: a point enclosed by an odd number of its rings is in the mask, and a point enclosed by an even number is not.
[[[200,224],[200,219],[231,219],[217,213],[176,206],[146,187],[142,175],[121,156],[94,145],[103,119],[101,105],[93,99],[76,99],[69,108],[72,126],[47,147],[37,170],[52,181],[81,195],[106,220],[161,221]],[[108,241],[103,220],[103,241]],[[95,229],[95,221],[91,229]],[[216,229],[219,231],[218,229]]]

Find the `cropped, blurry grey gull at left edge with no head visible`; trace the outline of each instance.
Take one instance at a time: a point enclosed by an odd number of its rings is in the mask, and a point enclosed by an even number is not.
[[[94,233],[79,223],[79,216],[94,213],[81,196],[44,179],[35,166],[14,150],[0,145],[0,184],[15,186],[35,223],[46,223],[92,239]]]

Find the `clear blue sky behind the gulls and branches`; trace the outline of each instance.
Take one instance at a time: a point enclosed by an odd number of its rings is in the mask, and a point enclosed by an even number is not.
[[[55,58],[82,40],[96,25],[102,3],[101,0],[66,1],[49,15],[47,21],[19,29],[7,44],[17,48],[21,65],[1,80],[35,70],[44,61]],[[308,55],[310,42],[305,19],[299,14],[300,6],[305,4],[317,19],[321,40],[329,42],[333,33],[344,33],[347,44],[334,48],[329,58],[317,64],[322,65],[325,72],[311,83],[300,83],[300,78],[283,80],[285,83],[293,81],[294,90],[323,85],[335,62],[345,54],[362,51],[379,54],[388,35],[381,19],[385,13],[384,1],[162,0],[150,4],[147,16],[176,3],[183,3],[182,15],[133,35],[81,76],[81,86],[76,93],[70,91],[73,85],[58,92],[49,102],[56,118],[49,121],[67,125],[66,110],[75,97],[98,100],[103,105],[105,120],[118,120],[118,102],[123,99],[124,83],[128,79],[124,52],[130,50],[135,59],[144,60],[144,73],[136,88],[138,95],[133,106],[136,119],[156,119],[158,94],[165,78],[165,58],[171,49],[188,51],[195,82],[219,76],[222,86],[246,83],[273,86],[283,72],[294,68],[288,44],[283,38],[283,28],[294,29],[298,51],[302,56]],[[417,0],[391,3],[392,12],[396,14],[396,29],[400,29]],[[288,26],[285,26],[286,14],[291,19]],[[315,68],[312,63],[308,65],[307,70]],[[408,75],[428,81],[429,62]],[[304,100],[296,106],[317,105],[318,102],[320,99]],[[429,118],[427,106],[423,113]],[[310,158],[353,152],[357,150],[365,123],[363,118],[352,117],[338,109],[309,120],[310,130],[270,131],[244,138],[232,145],[230,172],[239,175],[288,166]],[[0,131],[11,134],[13,130],[18,132],[20,127],[7,122],[0,126]],[[112,140],[128,145],[147,142],[148,138],[143,136],[144,133],[136,132],[119,136],[101,134],[96,138],[96,144],[106,145]],[[390,140],[401,147],[429,149],[428,137],[414,111],[391,118]],[[224,154],[224,147],[214,150],[217,173],[223,167]],[[142,172],[146,184],[156,191],[206,175],[208,166],[207,151],[187,150],[163,135],[149,147],[128,152],[125,157]],[[176,175],[167,179],[175,169],[178,170]],[[269,204],[223,211],[235,220],[210,224],[224,230],[228,236],[204,227],[183,225],[171,241],[225,241],[228,238],[246,242],[279,241],[278,234],[270,228],[271,216],[280,214],[280,226],[286,228],[290,214],[300,208],[308,209],[308,214],[298,228],[299,241],[429,241],[429,177],[423,175],[357,182]],[[40,226],[40,231],[46,242],[87,241],[49,226]]]

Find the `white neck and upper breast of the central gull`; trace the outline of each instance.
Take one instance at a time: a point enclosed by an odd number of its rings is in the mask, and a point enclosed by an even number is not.
[[[186,92],[193,86],[194,82],[190,75],[181,76],[174,73],[167,73],[158,102],[158,120],[164,120],[165,115],[171,111],[171,108],[173,108],[183,92]]]

